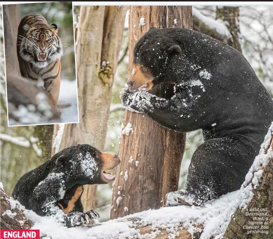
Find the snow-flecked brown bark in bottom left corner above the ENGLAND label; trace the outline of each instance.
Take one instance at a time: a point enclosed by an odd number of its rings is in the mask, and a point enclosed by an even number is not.
[[[18,208],[11,208],[10,196],[2,188],[0,188],[0,194],[1,229],[29,229],[32,222],[25,217],[24,212]],[[9,211],[13,214],[12,217],[7,213]]]

